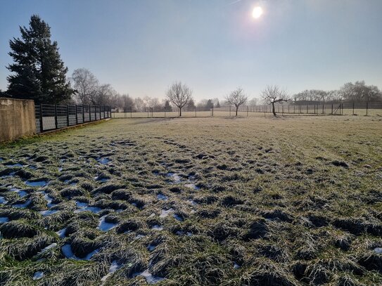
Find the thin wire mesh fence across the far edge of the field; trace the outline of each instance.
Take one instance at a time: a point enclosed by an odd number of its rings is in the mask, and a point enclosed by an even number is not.
[[[382,116],[382,103],[312,103],[312,104],[277,104],[274,111],[279,115],[365,115]],[[252,117],[272,114],[272,105],[241,105],[237,115]],[[137,111],[133,108],[112,110],[113,118],[163,118],[179,117],[179,110],[165,108],[144,108]],[[193,108],[182,110],[182,117],[232,117],[236,116],[234,106],[210,108],[209,110]]]

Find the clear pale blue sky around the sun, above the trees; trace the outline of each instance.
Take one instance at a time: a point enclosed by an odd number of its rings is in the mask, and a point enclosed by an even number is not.
[[[260,18],[253,18],[256,6]],[[39,15],[61,58],[132,97],[164,98],[175,81],[193,98],[268,84],[293,95],[365,80],[382,88],[381,0],[0,0],[0,89],[8,41]]]

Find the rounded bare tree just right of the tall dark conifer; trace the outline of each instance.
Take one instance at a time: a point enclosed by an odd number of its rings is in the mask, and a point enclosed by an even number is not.
[[[75,97],[79,103],[89,104],[98,89],[98,79],[89,70],[80,68],[72,73],[71,80],[76,90]]]

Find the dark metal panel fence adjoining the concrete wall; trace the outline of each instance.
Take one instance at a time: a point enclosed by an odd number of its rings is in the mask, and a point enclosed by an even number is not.
[[[110,106],[101,105],[35,105],[36,132],[92,122],[111,117]]]

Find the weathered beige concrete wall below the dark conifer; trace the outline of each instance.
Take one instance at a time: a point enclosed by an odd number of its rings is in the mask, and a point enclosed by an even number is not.
[[[0,142],[36,134],[34,101],[0,98]]]

